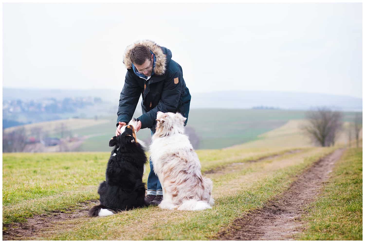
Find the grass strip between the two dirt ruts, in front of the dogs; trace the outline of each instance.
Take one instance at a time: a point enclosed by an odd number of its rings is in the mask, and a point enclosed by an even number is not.
[[[205,211],[169,211],[155,207],[135,209],[111,217],[89,220],[76,219],[45,232],[39,239],[48,240],[207,240],[214,238],[237,217],[260,208],[278,193],[286,190],[308,165],[333,151],[333,148],[316,150],[314,156],[291,154],[288,166],[280,168],[281,160],[247,163],[238,174],[227,180],[215,180],[214,190],[225,191],[232,181],[237,183],[254,174],[246,187],[235,193],[216,197],[215,205]],[[262,174],[262,171],[266,171]],[[216,187],[217,183],[223,183]],[[244,183],[244,182],[243,182]],[[245,183],[246,184],[246,183]],[[242,187],[241,187],[242,188]],[[214,193],[213,193],[214,195]]]

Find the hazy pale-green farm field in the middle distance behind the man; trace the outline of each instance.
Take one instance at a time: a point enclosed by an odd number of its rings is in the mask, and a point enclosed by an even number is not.
[[[354,114],[354,112],[343,113],[343,120],[345,122],[353,121]],[[136,112],[134,117],[139,117],[139,115],[141,114]],[[192,109],[189,113],[187,127],[194,129],[197,137],[199,137],[199,145],[196,149],[221,149],[243,143],[248,147],[262,147],[261,140],[265,138],[266,133],[270,135],[277,132],[282,137],[276,137],[276,141],[272,140],[272,146],[307,146],[310,145],[310,141],[300,135],[300,125],[303,124],[304,117],[304,111],[295,110]],[[115,134],[116,116],[99,117],[97,120],[58,120],[49,123],[30,124],[25,127],[29,130],[32,127],[42,125],[49,130],[51,136],[60,137],[58,129],[62,123],[70,129],[72,134],[86,136],[86,139],[74,151],[110,151],[108,141]],[[217,133],[217,127],[222,125],[225,126],[224,132]],[[8,128],[5,132],[16,128]],[[282,129],[276,130],[280,128]],[[141,140],[149,141],[150,129],[140,130],[138,137]],[[343,137],[346,139],[346,134]],[[247,144],[248,142],[251,143]]]

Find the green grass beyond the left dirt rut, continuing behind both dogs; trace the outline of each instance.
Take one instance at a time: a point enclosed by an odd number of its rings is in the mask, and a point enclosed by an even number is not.
[[[283,149],[197,150],[202,171],[234,162],[285,153]],[[4,153],[3,222],[23,222],[26,217],[65,208],[87,199],[97,199],[99,183],[105,180],[110,153]],[[146,166],[143,180],[150,169]],[[82,190],[80,191],[80,188]],[[76,193],[77,192],[77,193]],[[67,208],[66,207],[66,208]]]

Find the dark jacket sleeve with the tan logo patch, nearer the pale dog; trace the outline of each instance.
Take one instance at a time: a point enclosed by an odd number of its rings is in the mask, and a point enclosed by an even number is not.
[[[174,83],[174,79],[178,78],[178,83]],[[155,119],[157,118],[157,111],[163,113],[173,112],[176,113],[178,102],[180,100],[182,89],[183,75],[181,72],[175,72],[171,77],[165,80],[164,87],[161,94],[161,99],[157,106],[152,110],[138,117],[137,120],[141,121],[143,128],[149,128],[153,126]]]

